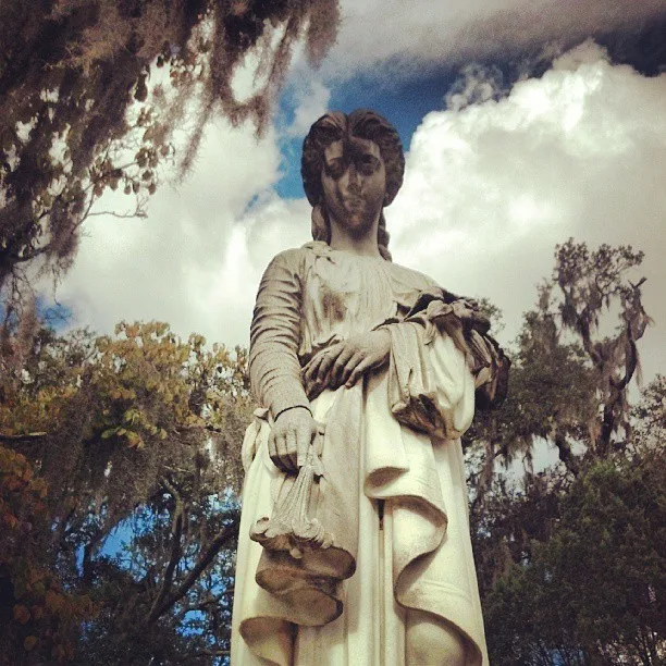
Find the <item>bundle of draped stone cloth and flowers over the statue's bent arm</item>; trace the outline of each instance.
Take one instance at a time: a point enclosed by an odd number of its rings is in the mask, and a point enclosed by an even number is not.
[[[382,328],[391,335],[391,410],[403,424],[456,439],[474,407],[490,409],[504,399],[510,363],[473,301],[432,287],[406,319]]]

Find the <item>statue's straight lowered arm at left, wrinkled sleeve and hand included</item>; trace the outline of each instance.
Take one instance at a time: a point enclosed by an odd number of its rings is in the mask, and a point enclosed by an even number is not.
[[[250,328],[252,393],[275,420],[269,453],[282,470],[297,469],[317,432],[300,379],[298,346],[303,254],[287,250],[266,269]]]

